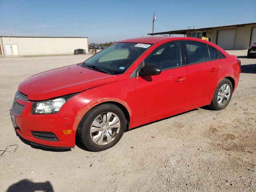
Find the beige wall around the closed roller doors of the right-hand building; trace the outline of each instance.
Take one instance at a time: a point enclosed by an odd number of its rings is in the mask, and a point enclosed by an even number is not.
[[[211,42],[216,44],[218,30],[236,29],[235,50],[243,50],[243,49],[248,49],[248,47],[250,46],[252,27],[256,27],[256,24],[246,25],[243,27],[233,26],[233,27],[214,28],[212,30],[207,30],[206,36],[208,38],[211,38]]]

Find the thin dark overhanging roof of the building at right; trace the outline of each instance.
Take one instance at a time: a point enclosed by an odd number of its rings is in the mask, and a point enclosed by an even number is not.
[[[256,24],[256,23],[245,23],[245,24],[225,25],[225,26],[198,28],[198,29],[182,29],[182,30],[174,30],[174,31],[165,31],[165,32],[157,32],[157,33],[148,33],[148,35],[160,35],[160,34],[183,34],[183,35],[185,35],[188,30],[190,30],[190,31],[195,31],[195,30],[202,30],[202,31],[205,31],[205,30],[211,30],[211,29],[214,29],[214,28],[233,27],[233,26],[236,26],[236,27],[243,27],[243,26],[246,26],[246,25],[253,25],[253,24]]]

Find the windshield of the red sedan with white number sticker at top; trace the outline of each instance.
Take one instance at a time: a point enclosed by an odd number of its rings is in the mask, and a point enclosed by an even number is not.
[[[86,60],[82,66],[108,74],[123,74],[150,46],[152,44],[116,43]]]

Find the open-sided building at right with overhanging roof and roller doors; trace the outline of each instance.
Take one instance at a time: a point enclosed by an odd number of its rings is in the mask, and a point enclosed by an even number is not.
[[[199,29],[185,29],[149,33],[148,35],[182,34],[190,37],[194,31],[204,32],[209,41],[217,44],[225,50],[243,50],[256,42],[256,23],[236,24],[228,26],[208,27]]]

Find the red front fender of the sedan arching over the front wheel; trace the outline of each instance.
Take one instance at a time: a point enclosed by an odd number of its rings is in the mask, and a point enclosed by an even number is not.
[[[129,74],[128,74],[129,75]],[[135,109],[135,78],[124,78],[117,82],[105,84],[81,92],[68,100],[59,113],[76,117],[73,130],[76,130],[83,116],[95,106],[106,102],[123,105],[129,116]],[[130,120],[132,120],[130,118]]]

